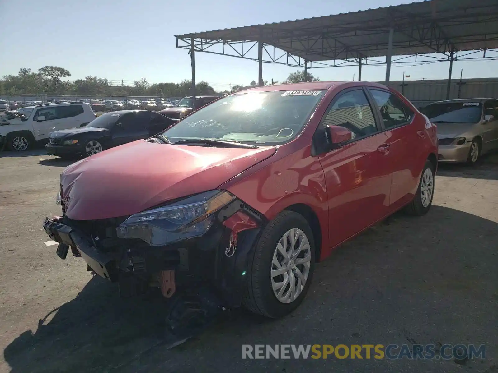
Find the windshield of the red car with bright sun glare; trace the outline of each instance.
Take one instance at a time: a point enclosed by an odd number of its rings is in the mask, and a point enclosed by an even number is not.
[[[192,113],[163,132],[171,142],[200,139],[271,146],[295,138],[325,91],[235,94]]]

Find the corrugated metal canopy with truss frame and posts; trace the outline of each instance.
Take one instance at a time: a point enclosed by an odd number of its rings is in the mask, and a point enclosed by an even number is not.
[[[176,36],[177,48],[303,68],[498,59],[498,0],[426,0]],[[254,48],[256,47],[256,48]],[[257,57],[255,50],[257,49]],[[385,60],[378,57],[385,56]],[[392,59],[392,56],[403,56]],[[195,68],[192,65],[193,83]],[[448,87],[449,88],[449,87]],[[448,90],[449,93],[449,90]]]

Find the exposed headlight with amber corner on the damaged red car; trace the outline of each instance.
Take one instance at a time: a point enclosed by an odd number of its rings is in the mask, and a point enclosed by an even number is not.
[[[233,201],[225,190],[210,190],[167,206],[131,215],[118,228],[117,236],[137,238],[150,246],[163,246],[202,236],[214,221],[213,213]]]

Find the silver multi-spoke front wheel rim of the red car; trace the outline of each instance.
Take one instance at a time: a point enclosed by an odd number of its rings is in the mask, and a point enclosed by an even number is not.
[[[301,294],[311,265],[311,248],[306,234],[289,229],[278,241],[271,262],[271,287],[282,303],[291,303]]]

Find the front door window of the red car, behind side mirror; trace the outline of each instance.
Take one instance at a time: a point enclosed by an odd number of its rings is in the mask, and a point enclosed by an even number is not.
[[[377,132],[372,108],[363,90],[343,93],[329,108],[323,125],[342,126],[351,131],[351,139]]]

